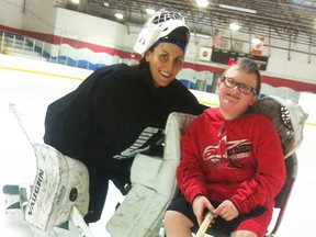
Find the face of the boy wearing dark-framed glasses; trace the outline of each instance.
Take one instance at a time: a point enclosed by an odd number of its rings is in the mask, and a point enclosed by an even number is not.
[[[237,83],[242,83],[257,88],[257,78],[255,74],[246,74],[239,70],[237,66],[227,69],[224,75],[226,78],[234,79]],[[218,80],[218,97],[219,110],[226,120],[233,120],[240,116],[251,104],[258,100],[258,95],[253,93],[242,93],[239,91],[238,86],[228,88],[224,81]]]

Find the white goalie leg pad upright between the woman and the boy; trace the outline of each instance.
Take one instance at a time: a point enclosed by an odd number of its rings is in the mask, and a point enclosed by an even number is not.
[[[180,137],[193,119],[190,114],[171,113],[165,129],[163,157],[135,157],[131,170],[133,188],[106,225],[112,237],[158,236],[165,211],[178,192]]]

